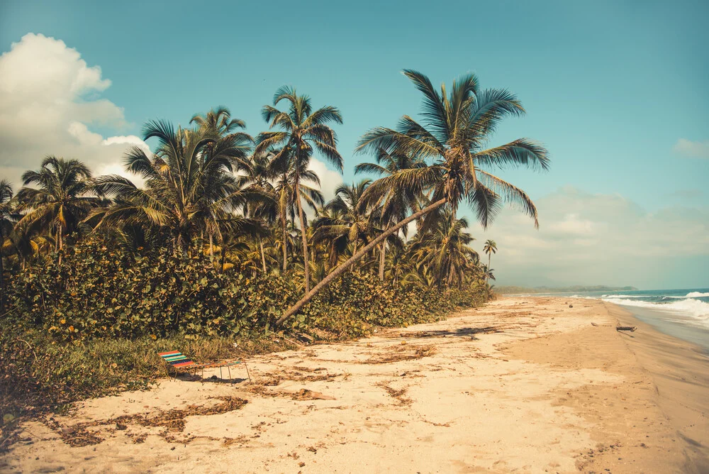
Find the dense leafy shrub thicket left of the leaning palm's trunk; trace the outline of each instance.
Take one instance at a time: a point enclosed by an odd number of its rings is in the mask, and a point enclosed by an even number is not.
[[[265,327],[294,290],[279,277],[220,274],[201,254],[131,256],[85,239],[64,264],[16,275],[8,301],[18,324],[65,341],[235,336]]]

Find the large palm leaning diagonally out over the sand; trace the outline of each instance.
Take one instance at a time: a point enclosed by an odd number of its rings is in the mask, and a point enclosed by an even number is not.
[[[502,118],[525,113],[515,95],[502,89],[481,90],[477,77],[472,74],[454,81],[450,94],[447,94],[445,85],[438,92],[430,79],[420,72],[404,70],[403,73],[423,93],[423,125],[410,116],[403,116],[396,129],[377,127],[365,133],[355,152],[379,153],[380,150],[387,150],[430,160],[427,167],[401,170],[377,180],[367,189],[372,198],[383,197],[392,189],[429,193],[430,204],[381,233],[352,255],[350,260],[333,270],[289,308],[279,319],[279,324],[296,314],[321,288],[329,285],[389,235],[415,219],[425,218],[440,206],[450,206],[451,218],[455,219],[457,208],[465,199],[486,228],[503,203],[510,202],[532,217],[535,226],[539,225],[537,208],[527,194],[484,170],[506,165],[540,170],[549,167],[547,150],[526,138],[495,148],[484,148]],[[430,221],[423,219],[419,231],[425,231]]]

